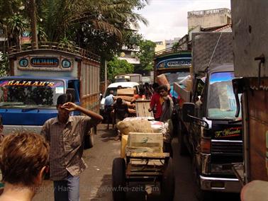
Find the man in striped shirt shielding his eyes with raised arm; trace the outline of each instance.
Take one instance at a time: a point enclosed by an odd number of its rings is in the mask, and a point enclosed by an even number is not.
[[[71,102],[70,94],[57,98],[58,115],[47,120],[41,134],[50,144],[50,179],[54,181],[55,201],[79,200],[79,175],[86,168],[82,159],[84,135],[103,117]],[[70,116],[78,110],[84,116]]]

